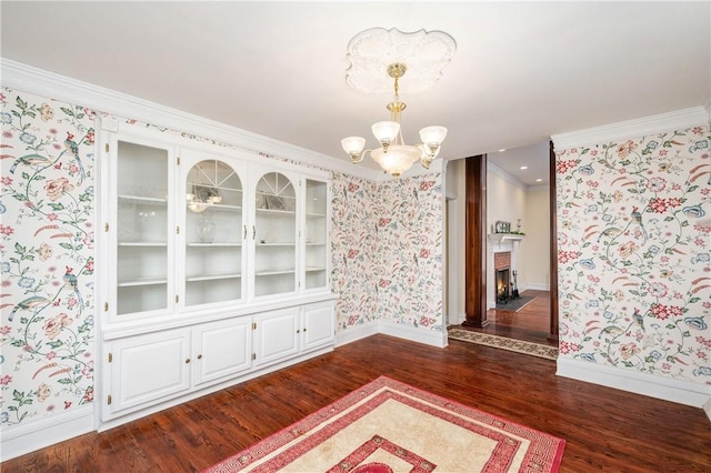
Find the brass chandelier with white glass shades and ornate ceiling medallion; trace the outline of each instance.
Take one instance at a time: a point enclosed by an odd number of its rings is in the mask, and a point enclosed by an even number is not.
[[[367,92],[380,92],[383,88],[381,78],[390,77],[394,82],[394,99],[387,105],[390,120],[372,125],[380,148],[363,151],[365,139],[362,137],[341,140],[343,151],[350,155],[352,162],[359,163],[365,154],[370,154],[384,172],[394,178],[400,177],[418,160],[423,168],[429,169],[440,152],[442,141],[447,137],[447,128],[425,127],[420,130],[421,143],[404,143],[400,114],[407,105],[400,101],[400,79],[411,63],[414,72],[410,82],[412,90],[429,89],[439,79],[441,68],[450,61],[454,48],[454,40],[449,34],[439,31],[428,33],[424,30],[403,33],[394,28],[373,28],[351,40],[348,48],[351,69],[347,77],[351,87]],[[383,69],[387,76],[383,74]]]

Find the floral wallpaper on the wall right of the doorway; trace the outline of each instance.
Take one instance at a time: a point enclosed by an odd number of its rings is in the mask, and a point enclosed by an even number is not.
[[[709,127],[557,151],[561,356],[711,384]]]

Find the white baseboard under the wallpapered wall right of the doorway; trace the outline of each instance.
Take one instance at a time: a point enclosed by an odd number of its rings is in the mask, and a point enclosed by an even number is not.
[[[654,376],[568,358],[558,359],[555,374],[679,404],[703,407],[707,414],[711,411],[711,385],[709,384]]]

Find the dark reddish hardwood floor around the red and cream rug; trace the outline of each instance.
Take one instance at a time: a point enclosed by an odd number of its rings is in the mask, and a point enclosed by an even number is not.
[[[701,409],[555,376],[550,360],[387,335],[3,462],[0,470],[200,471],[380,375],[564,439],[562,472],[711,471],[711,423]]]

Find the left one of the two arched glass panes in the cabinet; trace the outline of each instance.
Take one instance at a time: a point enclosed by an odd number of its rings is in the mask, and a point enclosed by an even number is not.
[[[242,181],[203,160],[186,181],[186,305],[242,299]]]

